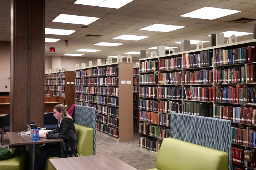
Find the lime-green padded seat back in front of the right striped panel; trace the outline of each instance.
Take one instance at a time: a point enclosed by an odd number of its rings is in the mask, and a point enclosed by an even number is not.
[[[150,170],[228,170],[228,153],[166,138]]]

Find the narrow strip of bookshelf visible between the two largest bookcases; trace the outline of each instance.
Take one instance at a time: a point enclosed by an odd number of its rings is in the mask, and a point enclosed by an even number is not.
[[[134,129],[139,128],[139,67],[134,67]]]

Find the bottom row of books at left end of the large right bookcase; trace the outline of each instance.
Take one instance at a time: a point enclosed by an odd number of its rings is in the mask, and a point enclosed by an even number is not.
[[[157,143],[156,139],[151,139],[148,137],[139,137],[139,147],[158,152],[160,149],[160,144]]]

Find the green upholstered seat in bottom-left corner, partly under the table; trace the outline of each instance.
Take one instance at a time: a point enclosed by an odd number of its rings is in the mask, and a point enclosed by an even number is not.
[[[20,151],[18,155],[9,159],[0,160],[0,170],[24,170],[28,163],[28,154],[26,149],[20,149]]]

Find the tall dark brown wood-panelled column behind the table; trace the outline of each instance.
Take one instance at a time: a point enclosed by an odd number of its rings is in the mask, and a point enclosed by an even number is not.
[[[45,0],[11,0],[10,131],[44,118]]]

